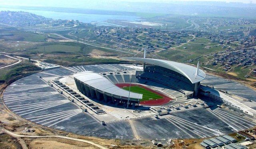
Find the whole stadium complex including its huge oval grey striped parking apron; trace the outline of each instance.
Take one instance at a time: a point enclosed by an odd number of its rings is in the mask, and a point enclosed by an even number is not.
[[[204,138],[256,124],[256,92],[247,86],[207,74],[199,63],[123,59],[129,63],[26,76],[4,90],[4,104],[30,122],[104,138]]]

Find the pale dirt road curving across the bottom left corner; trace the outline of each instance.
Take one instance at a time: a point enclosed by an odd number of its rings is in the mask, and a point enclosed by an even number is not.
[[[99,145],[97,143],[94,143],[92,141],[86,140],[86,139],[77,139],[77,138],[72,138],[72,137],[66,137],[66,136],[62,136],[62,135],[18,135],[16,133],[13,133],[12,131],[9,131],[7,129],[4,129],[2,127],[0,127],[0,133],[7,133],[8,135],[11,135],[12,137],[30,137],[30,138],[42,138],[42,137],[58,137],[58,138],[62,138],[62,139],[69,139],[69,140],[74,140],[74,141],[80,141],[80,142],[85,142],[91,145],[94,145],[100,149],[108,149],[107,147],[104,147],[102,145]]]

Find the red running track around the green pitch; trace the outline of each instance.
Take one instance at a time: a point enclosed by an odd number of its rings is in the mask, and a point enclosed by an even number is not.
[[[129,83],[117,83],[116,86],[120,87],[120,88],[123,88],[124,86],[130,86]],[[160,106],[160,105],[163,105],[163,104],[167,104],[168,102],[170,102],[171,100],[173,100],[172,98],[160,93],[160,92],[157,92],[155,90],[152,90],[150,88],[147,88],[146,86],[143,86],[143,85],[140,85],[140,84],[131,84],[131,86],[140,86],[146,90],[149,90],[150,92],[153,92],[155,94],[158,94],[160,96],[162,96],[163,98],[160,98],[160,99],[154,99],[154,100],[148,100],[148,101],[142,101],[140,102],[141,105],[144,105],[144,106]]]

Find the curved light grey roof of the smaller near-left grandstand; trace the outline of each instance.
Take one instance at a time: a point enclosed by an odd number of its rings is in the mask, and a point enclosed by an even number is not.
[[[116,86],[104,76],[98,73],[93,73],[92,71],[84,71],[82,73],[76,73],[74,74],[74,78],[80,80],[81,82],[84,82],[85,84],[88,84],[89,86],[92,86],[93,88],[96,88],[98,90],[101,90],[109,94],[122,96],[126,98],[128,98],[129,96],[128,90],[124,90]],[[142,94],[130,92],[130,98],[142,99]]]

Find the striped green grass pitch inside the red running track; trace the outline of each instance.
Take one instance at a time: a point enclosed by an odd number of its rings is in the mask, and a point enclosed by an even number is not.
[[[123,89],[125,90],[129,90],[129,86],[128,87],[124,87]],[[139,93],[139,94],[143,94],[142,99],[140,101],[146,101],[146,100],[150,100],[152,99],[160,99],[163,98],[162,96],[155,94],[154,92],[151,92],[149,90],[146,90],[145,88],[142,88],[140,86],[131,86],[130,89],[131,92],[135,92],[135,93]]]

